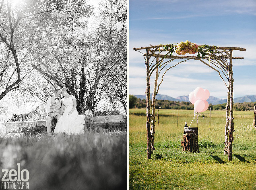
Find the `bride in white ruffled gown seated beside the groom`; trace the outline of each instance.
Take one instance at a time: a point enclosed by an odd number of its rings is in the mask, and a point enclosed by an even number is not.
[[[63,95],[60,114],[62,115],[56,124],[54,134],[66,133],[72,135],[80,135],[84,133],[84,116],[78,115],[76,110],[76,98],[70,95],[69,89],[63,87],[61,89]]]

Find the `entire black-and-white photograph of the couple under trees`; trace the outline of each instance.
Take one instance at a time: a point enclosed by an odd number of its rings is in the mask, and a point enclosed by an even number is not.
[[[1,189],[127,189],[127,0],[0,1]]]

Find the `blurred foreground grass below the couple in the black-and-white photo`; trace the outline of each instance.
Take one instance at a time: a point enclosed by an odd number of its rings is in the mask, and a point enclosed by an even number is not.
[[[29,171],[29,189],[126,189],[127,132],[5,134],[0,137],[0,168],[17,170],[17,163]]]

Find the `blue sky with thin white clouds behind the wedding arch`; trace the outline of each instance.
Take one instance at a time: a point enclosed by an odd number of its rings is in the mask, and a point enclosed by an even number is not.
[[[244,57],[233,60],[234,97],[256,95],[255,0],[130,0],[129,94],[143,95],[146,91],[144,57],[133,47],[186,40],[198,45],[246,48],[233,51],[233,56]],[[151,86],[153,80],[151,77]],[[218,73],[199,60],[181,63],[167,72],[158,93],[176,98],[196,87],[208,89],[211,96],[226,98],[227,88]]]

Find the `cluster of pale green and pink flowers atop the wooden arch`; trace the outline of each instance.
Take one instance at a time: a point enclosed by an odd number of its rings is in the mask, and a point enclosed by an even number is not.
[[[180,42],[177,45],[175,52],[179,55],[185,55],[186,53],[194,54],[198,52],[198,46],[187,40],[186,42]]]

